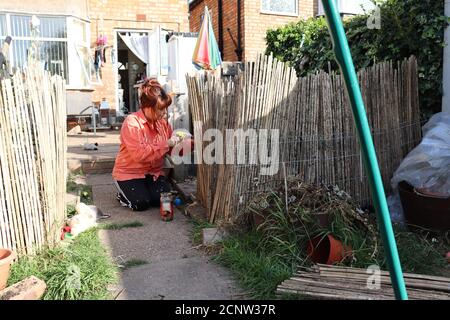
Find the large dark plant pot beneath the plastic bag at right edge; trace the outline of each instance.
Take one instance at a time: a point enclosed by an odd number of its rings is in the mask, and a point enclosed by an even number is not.
[[[406,222],[436,231],[450,230],[450,197],[424,194],[406,181],[398,184]]]

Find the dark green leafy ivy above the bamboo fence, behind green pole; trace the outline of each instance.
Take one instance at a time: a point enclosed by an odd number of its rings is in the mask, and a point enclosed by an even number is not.
[[[375,2],[375,0],[373,0]],[[344,20],[357,69],[411,55],[419,64],[419,95],[424,116],[441,110],[444,30],[449,20],[444,1],[378,1],[381,29],[369,29],[369,15]],[[299,76],[318,70],[338,71],[324,18],[291,23],[266,34],[266,53],[293,66]]]

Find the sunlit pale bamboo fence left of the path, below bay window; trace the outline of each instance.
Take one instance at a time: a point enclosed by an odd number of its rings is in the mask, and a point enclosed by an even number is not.
[[[65,217],[65,81],[31,67],[0,89],[0,247],[32,254]]]

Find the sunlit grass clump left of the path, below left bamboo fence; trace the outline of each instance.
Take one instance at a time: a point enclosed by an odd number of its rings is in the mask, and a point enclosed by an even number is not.
[[[107,287],[116,283],[117,271],[97,230],[91,229],[66,246],[20,258],[12,265],[8,284],[34,275],[47,284],[44,300],[105,300],[112,299]]]

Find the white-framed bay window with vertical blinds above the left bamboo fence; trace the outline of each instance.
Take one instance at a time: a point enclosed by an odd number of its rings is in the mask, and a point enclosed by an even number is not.
[[[32,34],[31,14],[0,14],[0,46],[6,36],[13,39],[9,52],[11,66],[25,68],[28,55],[35,50],[42,67],[64,77],[68,86],[87,88],[95,83],[89,24],[74,17],[37,17],[39,28]]]

